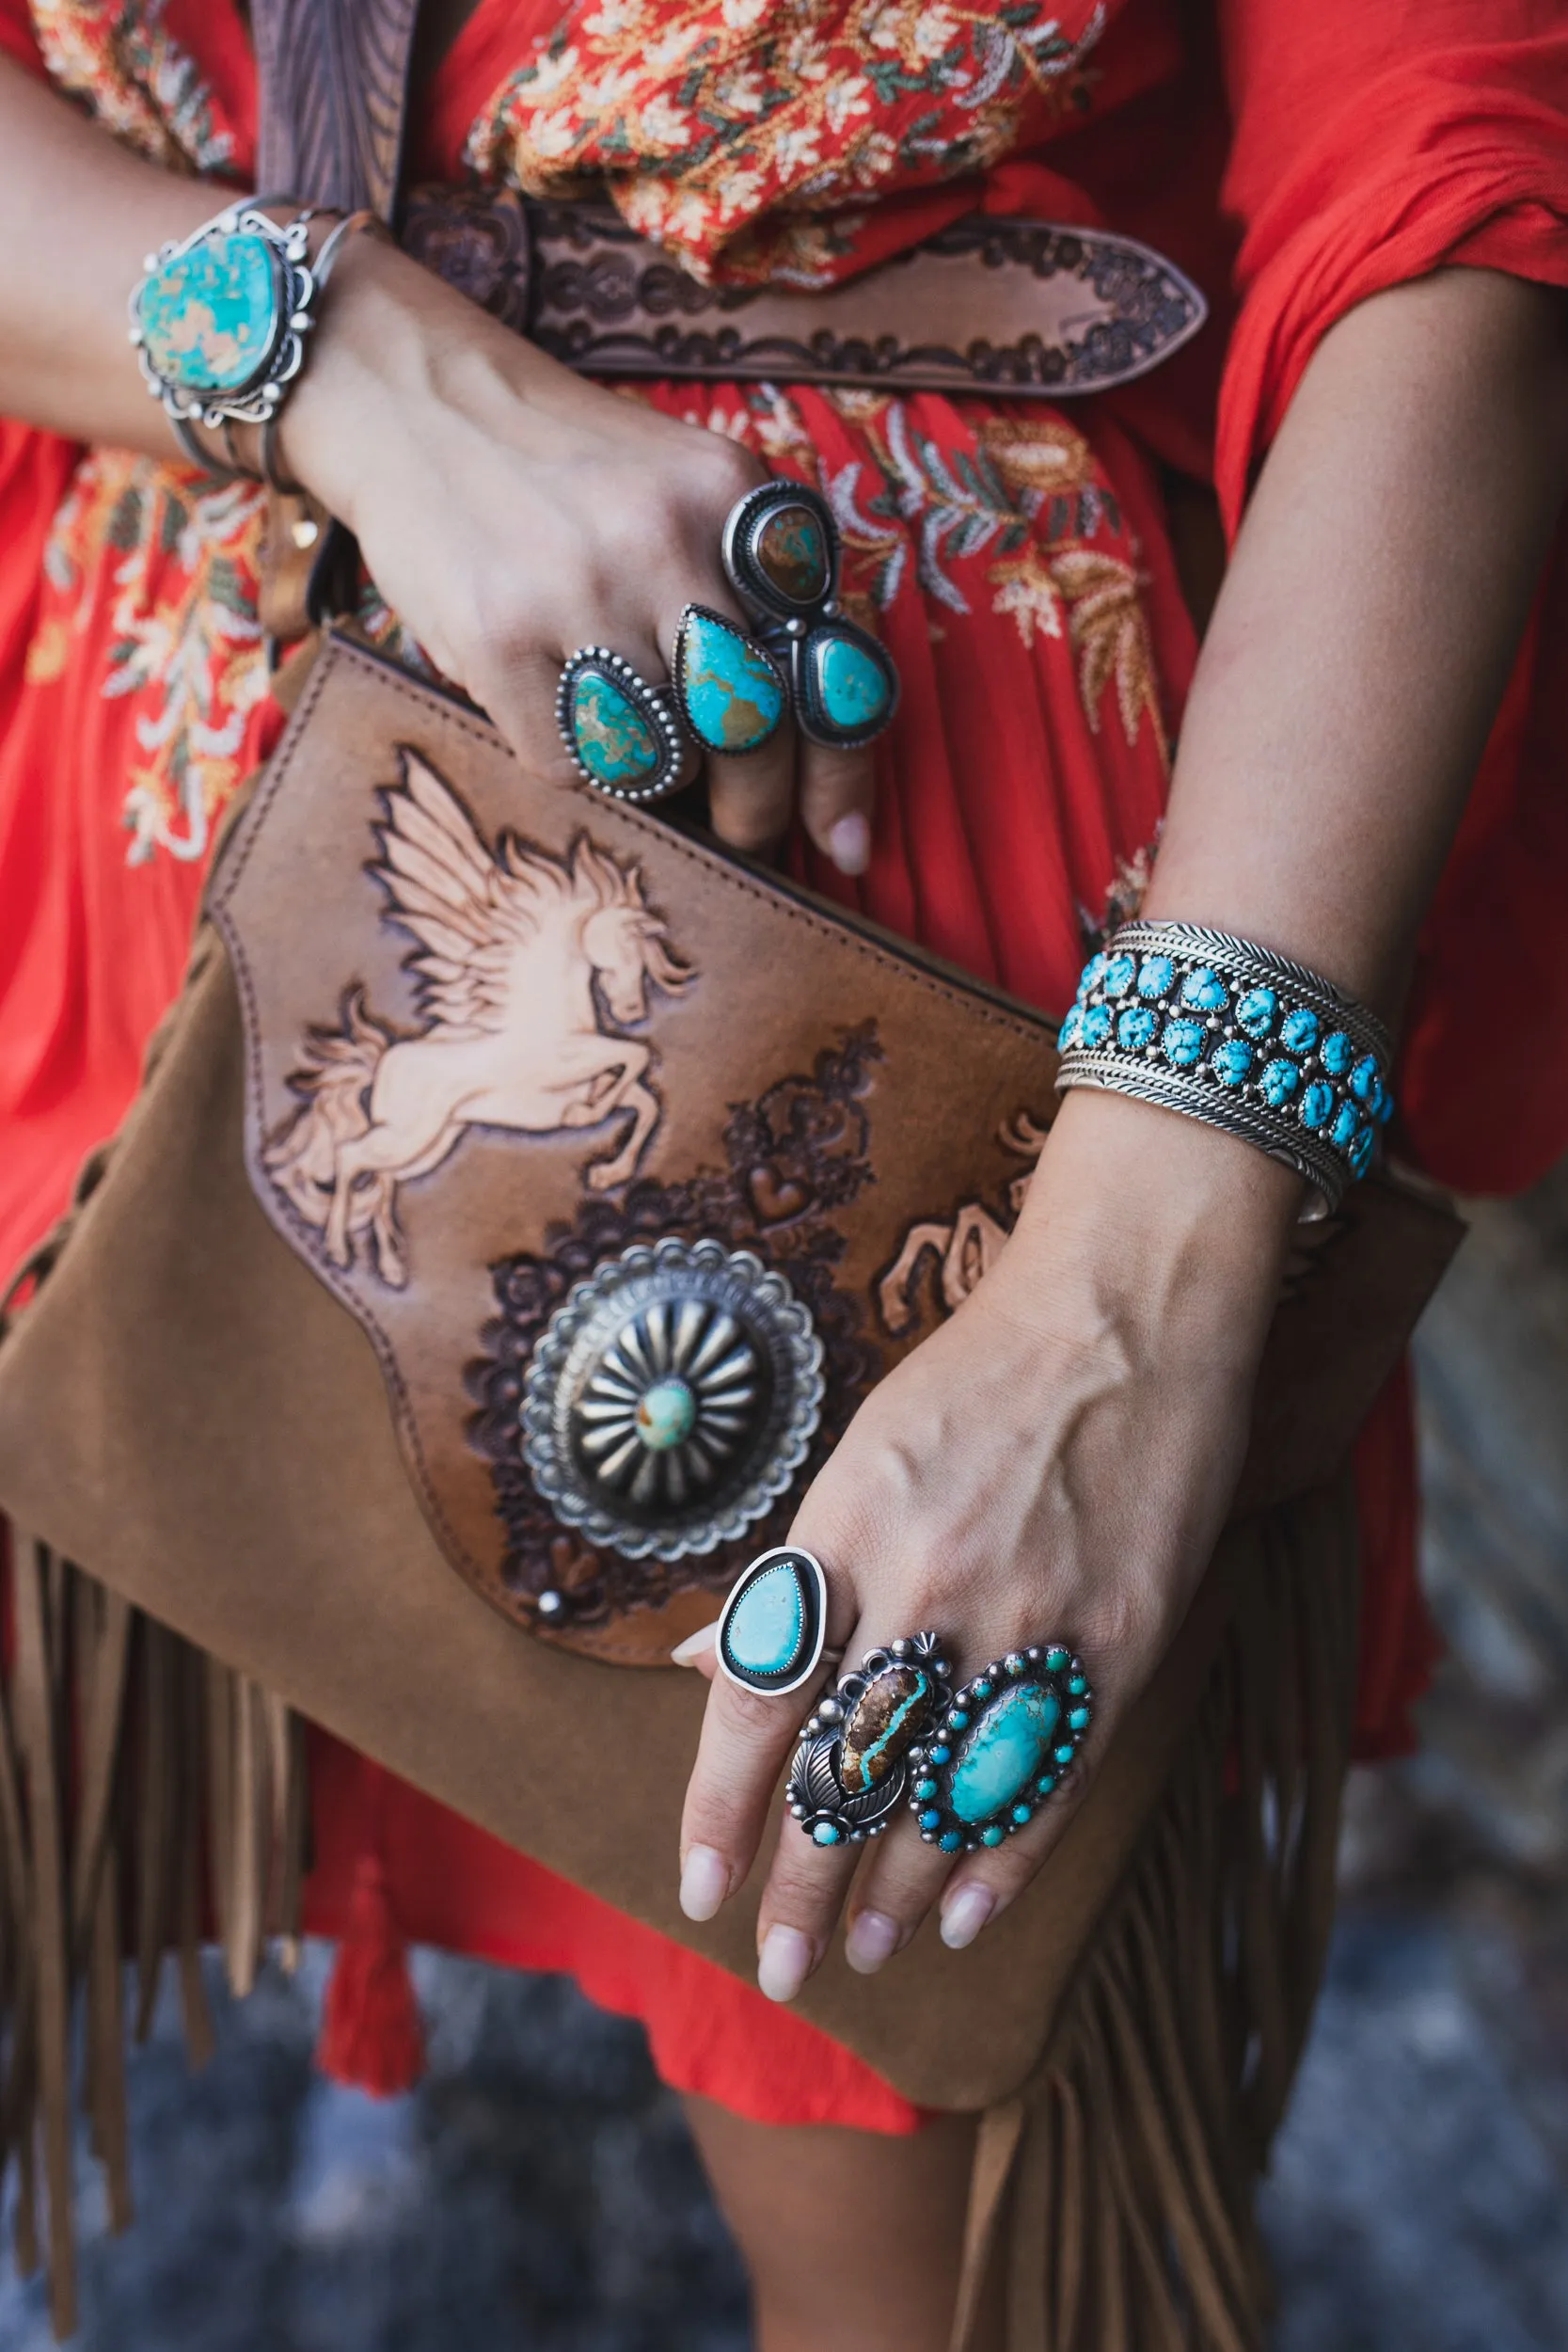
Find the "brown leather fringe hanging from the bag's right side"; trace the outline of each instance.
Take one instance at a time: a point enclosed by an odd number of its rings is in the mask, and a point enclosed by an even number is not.
[[[1034,2077],[980,2119],[952,2352],[1262,2352],[1253,2194],[1333,1924],[1356,1684],[1345,1489],[1239,1531],[1241,1604]],[[1234,1538],[1232,1538],[1234,1541]]]

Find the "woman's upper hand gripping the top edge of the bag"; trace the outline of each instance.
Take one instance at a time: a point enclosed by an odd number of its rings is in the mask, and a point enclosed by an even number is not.
[[[686,602],[748,626],[719,539],[766,480],[759,461],[571,374],[381,240],[353,238],[339,259],[280,449],[536,774],[576,774],[555,724],[576,647],[604,644],[661,684]],[[825,856],[865,870],[865,750],[825,750],[785,720],[759,750],[705,767],[722,840],[766,854],[799,807]]]

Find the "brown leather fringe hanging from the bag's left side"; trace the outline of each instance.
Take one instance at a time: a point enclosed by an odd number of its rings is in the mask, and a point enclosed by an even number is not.
[[[200,1945],[235,1992],[270,1938],[299,1945],[303,1724],[47,1545],[12,1529],[9,1675],[0,1682],[0,2171],[16,2164],[16,2267],[49,2274],[75,2328],[73,2112],[132,2218],[129,2025],[153,2023],[176,1955],[193,2065],[212,2053]],[[80,2020],[80,2023],[78,2023]]]

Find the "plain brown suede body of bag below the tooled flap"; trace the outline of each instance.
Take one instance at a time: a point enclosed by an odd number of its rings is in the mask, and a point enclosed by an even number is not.
[[[381,677],[357,656],[339,656],[343,670]],[[449,708],[421,701],[421,727]],[[402,703],[395,724],[409,724]],[[463,729],[487,776],[505,779],[487,729]],[[456,736],[442,741],[451,762]],[[748,877],[759,908],[752,891]],[[816,929],[806,953],[823,953]],[[992,1014],[976,1035],[994,1035]],[[722,1011],[710,1018],[722,1033]],[[1034,1033],[1025,1014],[1009,1025]],[[108,1174],[0,1348],[0,1508],[510,1844],[750,1976],[755,1886],[710,1926],[675,1903],[703,1684],[567,1656],[454,1573],[404,1475],[367,1331],[256,1204],[244,1089],[235,981],[207,934]],[[929,1101],[936,1115],[940,1091]],[[576,1160],[581,1145],[562,1155]],[[1281,1310],[1255,1498],[1321,1486],[1342,1463],[1455,1235],[1439,1204],[1361,1188]],[[1288,1508],[1342,1526],[1342,1491]],[[926,1926],[875,1980],[835,1952],[806,1987],[802,2011],[907,2098],[980,2107],[1027,2074],[1260,1557],[1262,1522],[1232,1526],[1084,1811],[1004,1922],[966,1955]]]

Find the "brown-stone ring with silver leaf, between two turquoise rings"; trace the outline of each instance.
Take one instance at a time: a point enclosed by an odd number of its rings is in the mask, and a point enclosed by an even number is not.
[[[936,1632],[870,1649],[806,1719],[788,1804],[816,1846],[882,1837],[905,1799],[907,1755],[947,1712],[952,1668]]]

